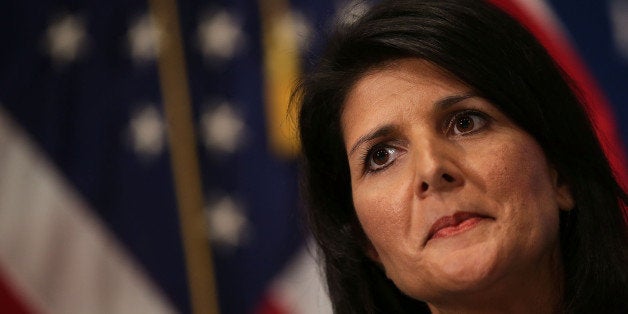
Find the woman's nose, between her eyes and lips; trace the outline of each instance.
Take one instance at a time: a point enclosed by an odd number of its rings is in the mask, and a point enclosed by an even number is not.
[[[459,154],[447,143],[424,141],[417,147],[417,193],[425,198],[433,193],[445,193],[464,185],[464,176],[458,166]]]

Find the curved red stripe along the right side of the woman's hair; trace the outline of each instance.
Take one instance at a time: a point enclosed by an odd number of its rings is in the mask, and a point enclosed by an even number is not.
[[[525,25],[545,46],[565,72],[575,81],[585,98],[591,120],[596,126],[598,138],[608,156],[617,179],[628,187],[628,169],[622,141],[617,132],[609,102],[599,88],[585,63],[558,29],[540,20],[534,12],[526,12],[512,0],[489,0]]]

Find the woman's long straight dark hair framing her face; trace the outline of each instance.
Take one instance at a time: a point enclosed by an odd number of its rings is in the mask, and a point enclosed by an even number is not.
[[[366,255],[340,124],[352,85],[368,70],[407,57],[472,86],[536,139],[571,188],[576,206],[560,216],[563,310],[626,310],[628,197],[570,80],[525,28],[488,3],[391,0],[339,27],[295,92],[307,218],[335,312],[429,312]]]

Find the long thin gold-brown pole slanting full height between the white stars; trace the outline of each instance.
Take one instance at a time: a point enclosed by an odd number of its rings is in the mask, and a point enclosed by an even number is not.
[[[149,6],[157,24],[159,79],[192,313],[218,314],[177,4],[176,0],[149,0]]]

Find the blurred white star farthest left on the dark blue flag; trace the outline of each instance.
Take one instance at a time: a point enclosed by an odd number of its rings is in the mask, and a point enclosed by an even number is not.
[[[46,32],[46,49],[59,65],[70,63],[80,57],[87,44],[85,23],[80,17],[66,14],[55,19]]]

